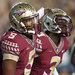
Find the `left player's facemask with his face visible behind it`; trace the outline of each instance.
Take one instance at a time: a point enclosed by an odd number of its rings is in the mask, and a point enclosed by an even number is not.
[[[21,18],[20,24],[21,24],[20,32],[35,34],[38,25],[38,14],[35,14],[30,17]]]

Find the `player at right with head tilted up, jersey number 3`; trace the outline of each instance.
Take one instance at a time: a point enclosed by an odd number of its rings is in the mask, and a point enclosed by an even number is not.
[[[53,75],[69,48],[68,36],[73,28],[71,18],[61,9],[51,9],[43,18],[44,32],[37,35],[37,56],[30,75]]]

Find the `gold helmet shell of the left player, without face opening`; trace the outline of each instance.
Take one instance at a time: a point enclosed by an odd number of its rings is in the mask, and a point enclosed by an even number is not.
[[[23,23],[22,19],[30,19],[37,16],[36,10],[34,7],[26,2],[19,2],[15,4],[9,13],[9,20],[11,22],[11,26],[21,32],[26,33],[28,30]],[[24,19],[25,20],[25,19]]]

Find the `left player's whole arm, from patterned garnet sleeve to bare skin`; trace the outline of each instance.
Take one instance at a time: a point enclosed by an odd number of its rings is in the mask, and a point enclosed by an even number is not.
[[[17,43],[17,34],[7,33],[1,40],[1,50],[3,55],[2,70],[3,75],[15,75],[16,64],[19,59],[19,45]]]

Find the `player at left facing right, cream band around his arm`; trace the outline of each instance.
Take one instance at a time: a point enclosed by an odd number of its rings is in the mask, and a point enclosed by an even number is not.
[[[9,13],[11,28],[0,41],[3,75],[29,75],[35,56],[38,14],[25,2],[15,4]]]

